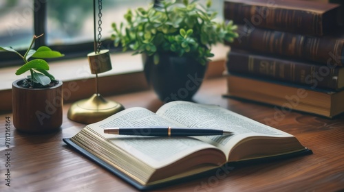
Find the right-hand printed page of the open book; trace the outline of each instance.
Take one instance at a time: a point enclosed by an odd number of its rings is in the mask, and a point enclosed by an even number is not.
[[[157,115],[188,128],[210,128],[233,132],[224,136],[197,136],[197,139],[215,145],[225,154],[236,143],[248,136],[292,136],[219,106],[173,101],[162,106]]]

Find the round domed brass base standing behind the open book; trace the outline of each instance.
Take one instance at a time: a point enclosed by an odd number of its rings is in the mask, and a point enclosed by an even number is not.
[[[94,94],[89,99],[76,101],[69,108],[67,117],[78,123],[96,123],[125,108],[116,101],[107,101],[101,95]]]

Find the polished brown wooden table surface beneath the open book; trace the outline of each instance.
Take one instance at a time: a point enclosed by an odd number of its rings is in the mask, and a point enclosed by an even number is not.
[[[206,80],[194,98],[196,102],[218,104],[262,123],[267,123],[267,119],[275,119],[275,128],[293,134],[305,147],[312,149],[314,154],[248,167],[235,167],[221,178],[208,176],[162,190],[344,189],[344,115],[336,119],[325,119],[288,112],[277,118],[276,111],[271,106],[223,98],[223,93],[226,93],[224,78]],[[108,99],[119,101],[125,108],[142,106],[155,111],[162,105],[153,91],[116,95]],[[69,106],[70,104],[65,104],[61,131],[54,134],[21,134],[11,124],[10,137],[7,137],[10,138],[10,148],[5,144],[6,117],[11,117],[11,114],[0,115],[0,191],[136,191],[63,143],[64,137],[74,136],[85,126],[67,119]],[[6,176],[8,173],[10,176]],[[10,180],[6,181],[6,178]],[[10,187],[6,186],[8,182]]]

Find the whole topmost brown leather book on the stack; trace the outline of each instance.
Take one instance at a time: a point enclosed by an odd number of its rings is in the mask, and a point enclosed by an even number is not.
[[[224,18],[238,24],[323,36],[340,23],[339,7],[315,1],[226,0]]]

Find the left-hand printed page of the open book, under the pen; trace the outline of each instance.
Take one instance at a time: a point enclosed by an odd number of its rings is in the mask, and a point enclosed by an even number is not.
[[[166,121],[145,108],[129,108],[103,121],[87,125],[87,127],[155,169],[201,149],[215,148],[213,145],[189,137],[124,136],[103,133],[103,128],[144,126],[166,126],[167,128],[171,125],[178,124]]]

